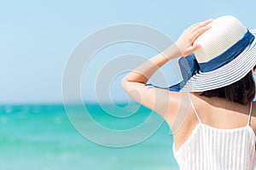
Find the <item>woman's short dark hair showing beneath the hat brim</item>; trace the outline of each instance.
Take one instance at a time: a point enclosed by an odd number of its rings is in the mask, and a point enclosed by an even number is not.
[[[256,69],[256,65],[253,70]],[[242,105],[252,102],[255,96],[255,82],[253,72],[248,72],[247,76],[241,78],[238,82],[234,82],[229,86],[217,88],[202,92],[200,95],[206,97],[219,97]]]

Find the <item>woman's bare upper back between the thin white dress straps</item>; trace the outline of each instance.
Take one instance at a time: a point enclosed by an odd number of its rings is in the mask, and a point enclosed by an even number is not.
[[[256,133],[256,103],[253,102],[252,115],[249,116],[251,104],[241,105],[221,98],[193,96],[193,103],[201,122],[218,128],[232,129],[247,126],[253,127]]]

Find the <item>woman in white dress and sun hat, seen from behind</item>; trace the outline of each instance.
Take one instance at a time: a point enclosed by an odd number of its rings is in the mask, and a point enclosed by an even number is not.
[[[196,23],[163,53],[123,78],[125,91],[160,114],[175,132],[173,152],[180,169],[253,169],[252,32],[230,15]],[[169,88],[146,84],[160,66],[179,56],[186,56],[179,59],[183,82]],[[185,112],[184,101],[189,101]]]

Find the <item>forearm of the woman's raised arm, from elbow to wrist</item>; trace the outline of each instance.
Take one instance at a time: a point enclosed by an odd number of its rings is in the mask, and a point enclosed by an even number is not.
[[[151,59],[139,65],[136,69],[128,73],[123,82],[141,82],[146,83],[162,65],[165,65],[170,59],[180,56],[180,52],[175,44],[166,48],[162,53],[155,55]]]

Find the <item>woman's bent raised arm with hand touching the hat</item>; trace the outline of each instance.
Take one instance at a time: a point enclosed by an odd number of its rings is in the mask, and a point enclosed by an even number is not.
[[[207,20],[190,26],[187,30],[183,31],[177,42],[129,72],[122,80],[122,87],[125,89],[125,92],[132,99],[156,111],[164,118],[166,118],[167,113],[168,116],[170,116],[169,113],[171,117],[174,116],[181,94],[160,88],[147,87],[145,84],[154,72],[162,65],[165,65],[170,59],[178,56],[187,56],[197,48],[200,48],[199,44],[194,44],[195,39],[210,28],[208,24],[211,21]]]

